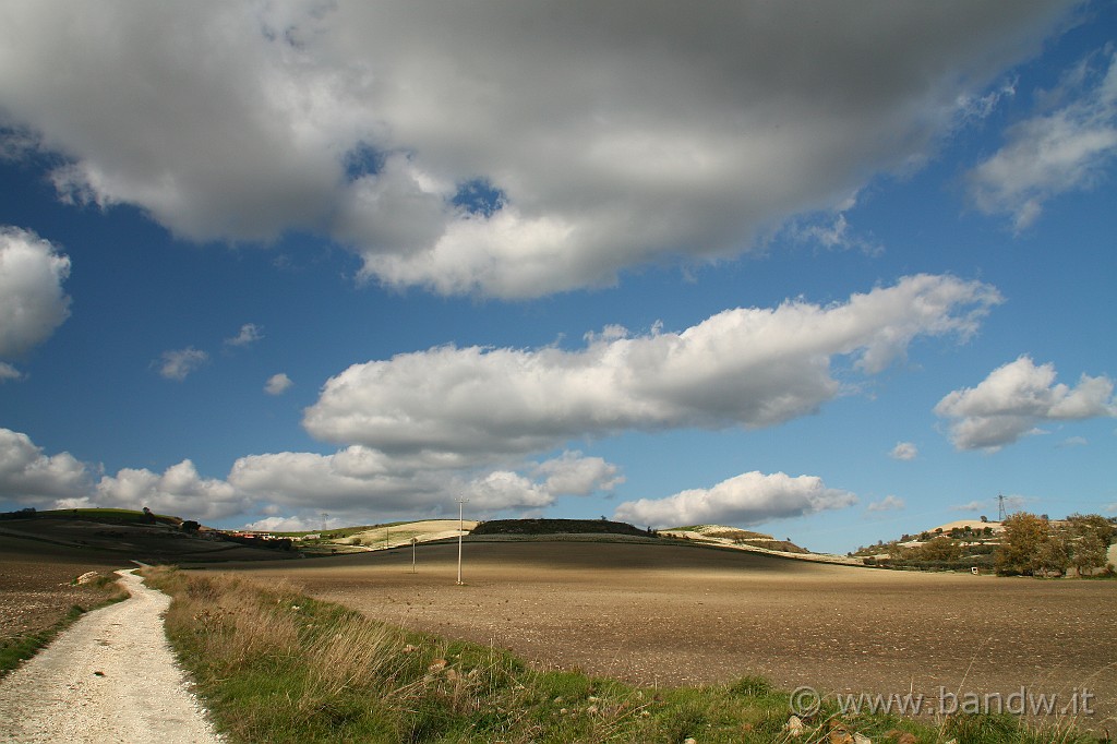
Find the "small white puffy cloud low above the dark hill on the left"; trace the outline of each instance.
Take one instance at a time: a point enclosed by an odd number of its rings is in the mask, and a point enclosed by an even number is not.
[[[221,519],[241,514],[247,499],[225,480],[202,478],[190,460],[172,465],[162,475],[146,468],[124,468],[97,484],[102,506],[172,514],[184,519]]]

